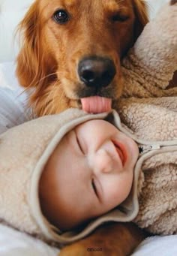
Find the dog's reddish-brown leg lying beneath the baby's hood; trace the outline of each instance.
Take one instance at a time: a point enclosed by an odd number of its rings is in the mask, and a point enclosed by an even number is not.
[[[85,239],[66,246],[58,256],[127,256],[147,236],[133,223],[108,223]]]

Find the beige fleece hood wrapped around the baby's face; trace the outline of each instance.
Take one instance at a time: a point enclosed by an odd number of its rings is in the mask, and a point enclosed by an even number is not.
[[[108,116],[108,117],[107,117]],[[107,113],[86,114],[70,109],[53,116],[34,119],[10,129],[0,137],[0,216],[3,221],[46,240],[73,242],[89,234],[103,221],[131,221],[138,211],[137,198],[126,201],[120,209],[95,220],[80,233],[62,233],[43,216],[38,197],[38,185],[43,167],[55,146],[68,131],[91,119],[109,119]],[[112,119],[121,128],[118,114]],[[72,218],[72,214],[71,214]]]

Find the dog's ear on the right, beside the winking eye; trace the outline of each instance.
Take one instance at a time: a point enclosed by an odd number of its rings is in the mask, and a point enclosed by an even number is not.
[[[133,0],[135,14],[134,42],[148,23],[148,5],[143,0]]]

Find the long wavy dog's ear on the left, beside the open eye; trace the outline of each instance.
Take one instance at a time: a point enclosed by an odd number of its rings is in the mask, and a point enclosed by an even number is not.
[[[42,20],[38,8],[38,2],[34,2],[29,8],[26,16],[18,26],[20,32],[21,50],[17,56],[17,77],[20,84],[26,88],[37,87],[41,89],[43,85],[49,83],[54,71],[54,61],[51,63],[51,56],[42,46]]]

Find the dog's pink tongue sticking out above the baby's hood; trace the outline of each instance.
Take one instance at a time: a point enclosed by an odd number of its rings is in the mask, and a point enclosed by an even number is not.
[[[112,100],[99,96],[81,98],[83,110],[88,113],[104,113],[111,110]]]

